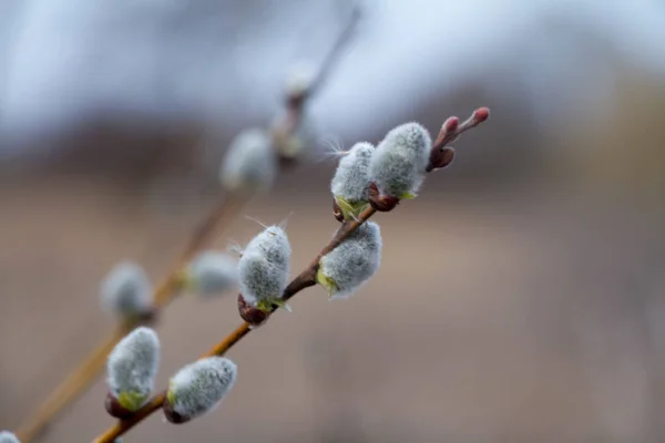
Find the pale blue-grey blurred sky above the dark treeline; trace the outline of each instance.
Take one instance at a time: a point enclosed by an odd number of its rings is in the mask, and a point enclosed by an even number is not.
[[[655,0],[364,4],[356,40],[311,109],[344,137],[408,119],[469,76],[543,116],[576,109],[613,81],[589,41],[665,74],[665,4]],[[0,135],[21,141],[98,112],[231,127],[266,120],[288,66],[320,60],[349,2],[4,0],[0,8]],[[7,144],[1,151],[10,153]]]

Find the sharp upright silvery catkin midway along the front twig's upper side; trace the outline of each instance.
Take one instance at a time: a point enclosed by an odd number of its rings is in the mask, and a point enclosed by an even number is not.
[[[249,241],[238,261],[239,289],[249,306],[282,298],[290,254],[288,237],[279,226],[268,226]]]

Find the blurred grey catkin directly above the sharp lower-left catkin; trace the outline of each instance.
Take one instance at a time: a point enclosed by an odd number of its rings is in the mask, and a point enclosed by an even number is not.
[[[149,311],[153,301],[147,275],[132,261],[115,265],[102,280],[100,292],[104,309],[123,317]]]

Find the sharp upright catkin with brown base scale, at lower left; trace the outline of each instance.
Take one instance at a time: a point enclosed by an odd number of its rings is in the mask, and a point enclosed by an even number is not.
[[[126,418],[147,401],[160,362],[160,340],[150,328],[136,328],[123,338],[106,362],[109,396],[106,410]]]

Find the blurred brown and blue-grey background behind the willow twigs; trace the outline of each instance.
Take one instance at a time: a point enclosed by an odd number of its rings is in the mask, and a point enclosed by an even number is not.
[[[245,214],[288,217],[294,272],[329,239],[330,146],[480,105],[418,199],[379,214],[378,275],[320,288],[229,357],[236,388],[129,442],[665,441],[665,4],[367,0],[307,107],[310,152]],[[317,66],[352,4],[3,0],[0,4],[0,429],[113,327],[99,282],[163,276],[243,128],[294,66]],[[238,217],[218,238],[245,244]],[[239,322],[235,295],[178,299],[160,384]],[[112,420],[99,382],[43,436]]]

